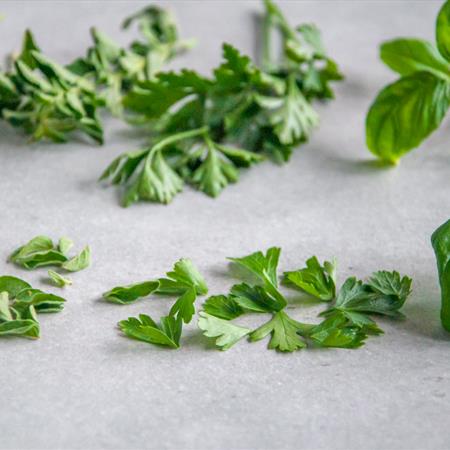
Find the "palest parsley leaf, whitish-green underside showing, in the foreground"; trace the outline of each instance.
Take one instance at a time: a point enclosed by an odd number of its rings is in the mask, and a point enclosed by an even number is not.
[[[198,327],[203,331],[204,336],[217,338],[216,346],[221,350],[228,350],[251,331],[249,328],[234,325],[228,320],[219,319],[204,311],[200,311],[199,315]]]

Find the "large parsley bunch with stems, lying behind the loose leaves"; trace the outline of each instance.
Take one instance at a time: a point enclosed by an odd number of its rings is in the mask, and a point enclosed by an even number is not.
[[[123,204],[169,203],[189,183],[216,197],[239,171],[268,156],[286,162],[318,124],[314,100],[333,97],[342,78],[318,29],[290,27],[265,1],[262,67],[230,44],[211,77],[184,69],[137,81],[124,97],[128,119],[151,130],[151,144],[115,159],[101,176],[124,187]],[[271,54],[271,36],[283,46]]]

